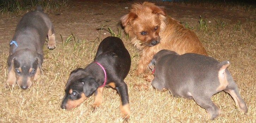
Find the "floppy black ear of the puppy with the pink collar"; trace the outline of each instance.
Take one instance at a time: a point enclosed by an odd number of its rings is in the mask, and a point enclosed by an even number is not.
[[[99,87],[99,84],[93,78],[83,80],[83,84],[83,90],[86,97],[90,97]]]

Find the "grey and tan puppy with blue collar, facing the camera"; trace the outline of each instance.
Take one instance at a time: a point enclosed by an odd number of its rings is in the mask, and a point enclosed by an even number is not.
[[[48,36],[48,48],[56,47],[53,24],[43,13],[42,7],[26,13],[19,21],[10,43],[8,79],[6,87],[16,83],[22,89],[29,88],[41,74],[43,45]]]

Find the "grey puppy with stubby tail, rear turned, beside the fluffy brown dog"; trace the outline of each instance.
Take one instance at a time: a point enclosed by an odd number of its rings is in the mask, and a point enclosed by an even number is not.
[[[221,111],[211,97],[223,90],[232,96],[236,106],[247,113],[238,87],[226,69],[229,64],[229,61],[218,62],[199,54],[178,55],[175,51],[161,50],[154,55],[148,67],[154,72],[154,88],[166,88],[174,96],[194,99],[206,109],[208,117],[214,119]]]

